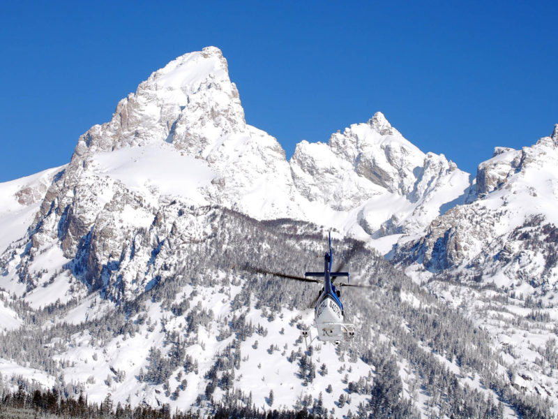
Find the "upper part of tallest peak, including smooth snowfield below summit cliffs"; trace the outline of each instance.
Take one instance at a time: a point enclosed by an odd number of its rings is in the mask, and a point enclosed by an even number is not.
[[[257,218],[297,214],[285,152],[271,135],[246,124],[216,47],[151,74],[120,101],[109,123],[80,137],[72,163],[80,177],[144,188],[152,203],[174,195]]]

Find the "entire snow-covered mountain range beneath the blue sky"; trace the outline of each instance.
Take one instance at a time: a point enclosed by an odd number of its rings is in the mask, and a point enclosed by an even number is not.
[[[301,142],[287,161],[246,124],[220,50],[185,54],[84,133],[68,165],[0,184],[0,372],[28,389],[34,378],[173,409],[548,416],[545,394],[558,394],[548,330],[536,346],[513,340],[496,330],[507,314],[490,317],[497,293],[474,291],[480,315],[446,279],[520,281],[526,293],[555,284],[557,142],[558,128],[521,152],[498,149],[471,185],[377,112],[327,143]],[[306,350],[317,289],[247,265],[317,269],[331,229],[344,238],[335,255],[372,292],[343,297],[353,346]],[[382,253],[398,242],[392,261],[437,298],[350,236]],[[531,302],[509,297],[508,312],[538,321]]]

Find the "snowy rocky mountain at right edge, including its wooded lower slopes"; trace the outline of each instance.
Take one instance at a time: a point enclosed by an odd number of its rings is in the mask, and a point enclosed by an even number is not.
[[[490,332],[516,388],[558,389],[558,125],[531,147],[497,147],[467,203],[404,237],[392,261]]]

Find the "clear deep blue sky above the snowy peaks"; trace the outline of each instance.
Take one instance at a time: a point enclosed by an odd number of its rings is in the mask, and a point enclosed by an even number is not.
[[[490,4],[485,4],[490,3]],[[287,156],[376,112],[467,172],[558,123],[558,2],[3,1],[0,182],[67,163],[152,71],[206,45]]]

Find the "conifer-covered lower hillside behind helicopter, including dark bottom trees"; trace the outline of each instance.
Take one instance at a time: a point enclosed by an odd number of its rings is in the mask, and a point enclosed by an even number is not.
[[[352,280],[371,287],[342,290],[347,320],[359,332],[337,348],[306,346],[300,331],[311,325],[303,314],[317,288],[257,274],[254,267],[287,274],[319,269],[324,232],[298,221],[256,221],[215,207],[204,211],[212,225],[223,228],[182,243],[181,263],[169,265],[167,277],[149,291],[122,300],[114,284],[96,294],[91,306],[99,316],[54,322],[82,302],[32,309],[4,299],[26,324],[4,333],[0,358],[55,381],[45,388],[23,375],[0,377],[2,417],[552,417],[551,400],[510,384],[515,372],[482,328],[356,241],[334,241],[333,247],[339,263],[350,263]],[[226,310],[218,314],[215,303],[207,304],[210,298]],[[285,326],[276,328],[279,322]],[[160,336],[160,344],[152,336]],[[280,339],[286,343],[277,344]],[[115,367],[107,348],[129,341],[142,342],[145,358],[133,370]],[[207,358],[211,342],[218,349]],[[83,380],[75,379],[76,348],[89,351],[86,365],[94,365],[95,373]],[[266,387],[274,379],[273,364],[292,371],[287,385],[301,389],[289,404],[278,402],[288,392]],[[243,379],[253,371],[262,372],[262,384],[250,387]],[[104,399],[92,402],[88,388],[104,389]],[[123,397],[126,388],[133,390]],[[310,388],[316,390],[305,390]],[[191,402],[179,407],[180,400]]]

